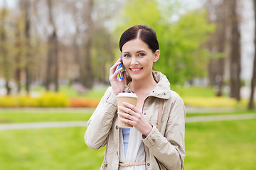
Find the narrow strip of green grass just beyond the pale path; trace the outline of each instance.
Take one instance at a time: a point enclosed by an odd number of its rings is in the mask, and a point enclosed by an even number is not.
[[[186,117],[198,115],[232,115],[248,114],[256,111],[230,111],[217,113],[186,113]],[[86,121],[92,115],[91,110],[79,109],[3,109],[0,110],[1,123],[33,123],[54,121]]]

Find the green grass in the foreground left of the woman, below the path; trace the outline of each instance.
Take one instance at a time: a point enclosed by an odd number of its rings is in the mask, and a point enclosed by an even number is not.
[[[85,128],[0,131],[2,170],[100,169],[103,149],[85,145]]]

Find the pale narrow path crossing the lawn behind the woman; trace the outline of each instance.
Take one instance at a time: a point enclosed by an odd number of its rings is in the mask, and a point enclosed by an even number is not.
[[[248,120],[256,119],[256,113],[236,114],[236,115],[199,115],[186,118],[186,123],[212,122],[223,120]],[[5,123],[0,124],[0,130],[21,130],[38,128],[68,128],[86,127],[87,121],[67,121],[67,122],[38,122],[38,123]]]

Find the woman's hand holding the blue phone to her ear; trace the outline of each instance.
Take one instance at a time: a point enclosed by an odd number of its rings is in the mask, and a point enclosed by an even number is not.
[[[124,90],[124,85],[126,82],[126,76],[124,72],[124,79],[118,80],[117,75],[119,72],[123,72],[123,68],[121,67],[120,69],[117,69],[117,66],[121,64],[121,59],[119,58],[116,63],[110,68],[110,84],[112,86],[112,91],[115,95],[121,93]]]

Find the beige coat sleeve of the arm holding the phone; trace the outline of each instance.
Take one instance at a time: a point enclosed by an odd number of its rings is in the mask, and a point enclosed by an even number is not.
[[[92,149],[100,149],[107,142],[114,114],[117,111],[117,96],[112,93],[109,87],[100,100],[95,112],[87,122],[85,132],[85,143]]]

